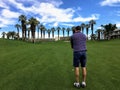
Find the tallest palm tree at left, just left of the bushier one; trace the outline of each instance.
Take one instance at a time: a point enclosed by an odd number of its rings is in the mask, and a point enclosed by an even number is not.
[[[19,16],[19,21],[21,21],[21,27],[22,27],[22,40],[26,39],[26,16],[25,15],[20,15]]]

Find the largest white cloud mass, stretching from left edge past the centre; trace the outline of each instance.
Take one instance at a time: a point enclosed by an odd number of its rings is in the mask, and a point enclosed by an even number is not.
[[[25,5],[25,2],[30,5]],[[21,14],[26,16],[36,16],[41,23],[53,26],[58,26],[62,23],[65,25],[65,23],[70,22],[86,22],[91,19],[99,19],[98,14],[92,14],[89,17],[75,17],[75,12],[78,10],[80,11],[81,8],[60,8],[59,6],[63,4],[61,0],[7,0],[6,2],[5,0],[1,0],[0,3],[0,7],[4,8],[0,14],[1,27],[15,24],[18,22],[18,17]],[[11,7],[9,5],[14,6],[16,11],[11,11]]]

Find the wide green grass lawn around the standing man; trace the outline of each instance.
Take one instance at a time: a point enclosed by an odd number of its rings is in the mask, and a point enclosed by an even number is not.
[[[120,90],[120,40],[87,42],[87,87]],[[0,39],[0,90],[76,90],[69,42]]]

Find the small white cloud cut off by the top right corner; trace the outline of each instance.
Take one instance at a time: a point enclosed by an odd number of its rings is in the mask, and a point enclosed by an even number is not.
[[[120,6],[120,0],[103,0],[101,6]]]

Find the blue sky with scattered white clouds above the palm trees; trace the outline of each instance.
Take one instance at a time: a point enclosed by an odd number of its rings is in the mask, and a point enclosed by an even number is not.
[[[37,18],[47,28],[87,24],[91,19],[95,30],[108,23],[120,27],[120,0],[0,0],[0,35],[16,31],[21,14]]]

